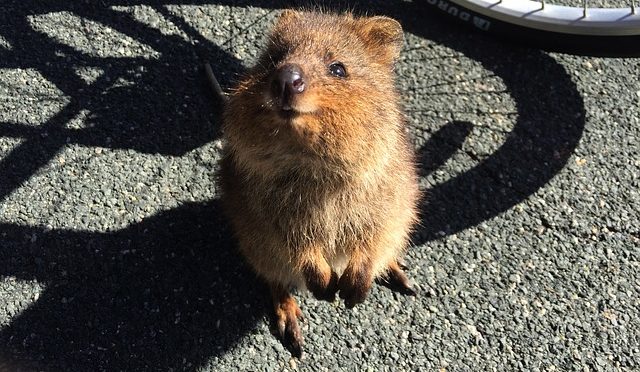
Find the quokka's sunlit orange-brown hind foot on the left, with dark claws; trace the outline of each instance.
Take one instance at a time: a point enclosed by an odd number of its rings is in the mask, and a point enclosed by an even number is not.
[[[303,320],[302,311],[286,288],[279,284],[270,287],[280,339],[293,356],[301,358],[303,339],[298,319]]]

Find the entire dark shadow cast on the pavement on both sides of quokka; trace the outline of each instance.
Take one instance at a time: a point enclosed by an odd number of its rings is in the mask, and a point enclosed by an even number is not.
[[[195,3],[208,2],[189,2]],[[349,7],[362,9],[367,4]],[[545,185],[578,143],[584,108],[564,68],[546,54],[468,38],[416,7],[388,2],[375,5],[373,11],[394,16],[407,31],[458,50],[494,71],[519,112],[513,133],[496,153],[429,190],[422,206],[425,227],[416,234],[421,244],[492,218]],[[216,70],[228,69],[227,76],[233,76],[242,70],[241,62],[195,30],[190,36],[199,40],[197,46],[160,35],[105,8],[23,1],[0,16],[11,20],[12,29],[2,29],[2,36],[14,47],[0,52],[0,68],[36,69],[71,98],[39,131],[0,125],[0,136],[25,139],[0,160],[0,200],[67,143],[181,156],[217,137],[218,122],[213,119],[217,113],[204,78],[182,67],[215,60]],[[35,33],[24,20],[29,14],[60,10],[102,22],[150,45],[162,57],[87,56]],[[97,66],[105,73],[87,85],[75,75],[74,65]],[[118,77],[132,84],[113,87]],[[528,79],[521,84],[524,78]],[[222,80],[223,85],[231,84],[230,79]],[[550,91],[550,86],[558,89]],[[151,94],[164,91],[172,94]],[[549,105],[547,111],[537,110],[541,103]],[[66,124],[81,110],[92,113],[92,126],[70,130]],[[448,159],[472,125],[449,123],[432,136],[421,152],[424,172]],[[42,361],[40,369],[196,370],[232,348],[269,308],[265,288],[245,268],[232,244],[215,200],[186,204],[112,233],[0,224],[0,275],[45,285],[38,300],[0,331],[0,343],[26,359]]]

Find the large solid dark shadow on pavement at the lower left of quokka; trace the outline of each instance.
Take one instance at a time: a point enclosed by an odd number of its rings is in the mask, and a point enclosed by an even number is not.
[[[114,233],[0,231],[0,274],[45,286],[0,341],[41,368],[192,370],[253,329],[269,303],[217,202]]]

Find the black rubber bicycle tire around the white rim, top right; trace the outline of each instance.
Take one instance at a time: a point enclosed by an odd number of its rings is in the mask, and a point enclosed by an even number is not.
[[[640,26],[631,35],[589,35],[546,31],[525,27],[498,15],[491,8],[482,13],[466,5],[466,1],[418,0],[451,19],[463,23],[481,33],[489,33],[518,45],[527,45],[546,51],[585,56],[640,57]]]

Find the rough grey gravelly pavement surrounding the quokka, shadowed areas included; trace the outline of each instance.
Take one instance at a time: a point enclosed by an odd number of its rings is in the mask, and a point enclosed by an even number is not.
[[[2,2],[0,370],[640,368],[640,59],[505,45],[405,1],[349,5],[406,30],[419,295],[300,293],[291,357],[220,214],[201,69],[232,86],[288,5]]]

